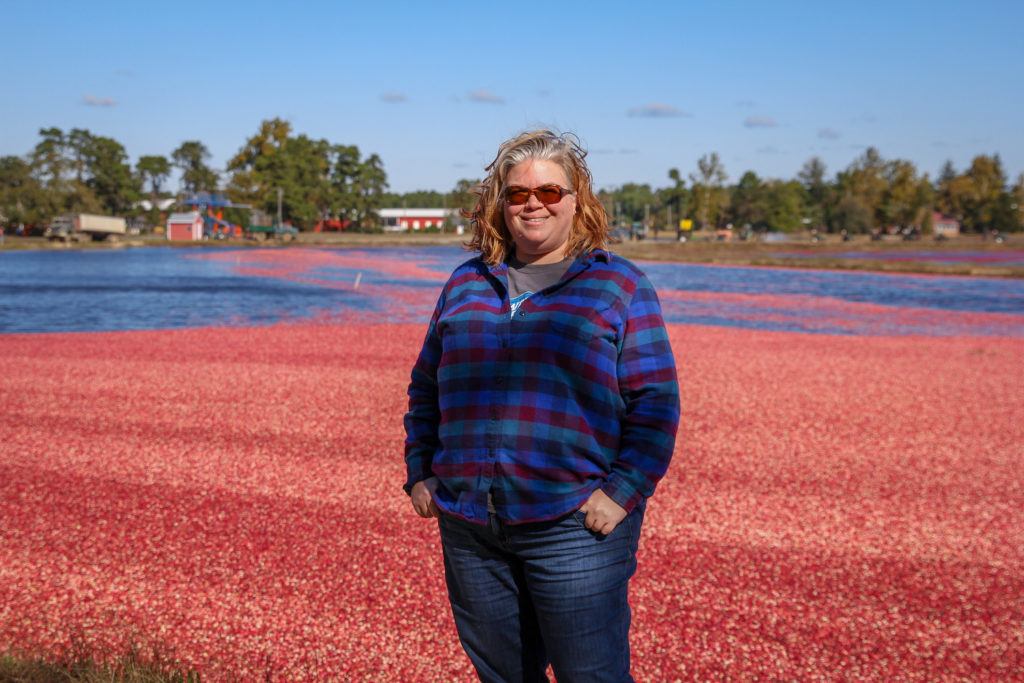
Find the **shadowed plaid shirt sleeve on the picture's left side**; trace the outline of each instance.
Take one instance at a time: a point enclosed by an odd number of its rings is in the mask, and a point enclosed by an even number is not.
[[[444,308],[444,297],[445,292],[441,292],[409,383],[409,412],[404,418],[406,484],[402,486],[407,494],[411,494],[413,484],[433,476],[430,465],[440,445],[437,365],[441,358],[441,340],[437,334],[437,318]]]

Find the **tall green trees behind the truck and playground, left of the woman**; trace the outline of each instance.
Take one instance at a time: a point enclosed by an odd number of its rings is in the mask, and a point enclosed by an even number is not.
[[[210,151],[200,140],[185,140],[169,156],[139,157],[132,167],[124,145],[85,129],[44,128],[39,136],[28,155],[0,157],[0,224],[42,226],[66,213],[141,217],[154,224],[158,201],[175,197],[166,187],[175,169],[182,195],[222,193],[269,215],[276,213],[280,188],[283,218],[300,228],[325,218],[374,223],[388,186],[379,156],[294,134],[281,119],[263,121],[223,173],[210,166]]]

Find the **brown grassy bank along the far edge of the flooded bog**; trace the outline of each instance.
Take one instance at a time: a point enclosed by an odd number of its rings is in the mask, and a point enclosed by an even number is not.
[[[0,253],[25,250],[67,250],[67,249],[127,249],[139,247],[225,247],[225,248],[286,248],[286,247],[431,247],[460,246],[468,236],[456,234],[408,234],[408,233],[317,233],[306,232],[288,243],[254,242],[249,240],[225,240],[217,242],[171,243],[159,237],[136,237],[114,244],[85,242],[66,245],[49,242],[43,238],[6,237],[0,243]],[[760,242],[723,243],[710,240],[692,240],[679,243],[668,240],[647,240],[623,242],[612,247],[613,251],[630,259],[699,263],[729,266],[769,266],[786,268],[812,268],[828,270],[858,270],[893,273],[924,273],[941,275],[968,275],[985,278],[1024,278],[1024,266],[999,263],[945,262],[942,254],[956,252],[990,252],[993,256],[1007,251],[1017,251],[1024,247],[1024,240],[1013,236],[1005,244],[997,245],[982,240],[978,236],[966,236],[943,243],[921,242],[871,242],[859,238],[850,242],[824,241],[814,243],[809,240],[794,239],[791,242],[765,244]],[[793,256],[794,253],[800,256]],[[878,254],[879,258],[857,256],[851,258],[846,252]],[[910,252],[918,252],[910,258]],[[939,255],[934,261],[925,260],[920,252]],[[900,254],[907,253],[908,260],[900,260]]]

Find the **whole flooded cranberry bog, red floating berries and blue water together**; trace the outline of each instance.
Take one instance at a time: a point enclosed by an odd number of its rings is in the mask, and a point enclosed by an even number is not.
[[[473,680],[400,488],[466,256],[145,251],[0,260],[0,652]],[[1024,283],[642,266],[683,422],[637,680],[1020,678]]]

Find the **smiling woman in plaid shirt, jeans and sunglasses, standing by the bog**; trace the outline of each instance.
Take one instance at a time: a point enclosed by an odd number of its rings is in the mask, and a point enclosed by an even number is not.
[[[586,153],[501,145],[413,369],[406,492],[438,517],[483,681],[631,681],[628,582],[679,387],[657,297],[605,250]]]

